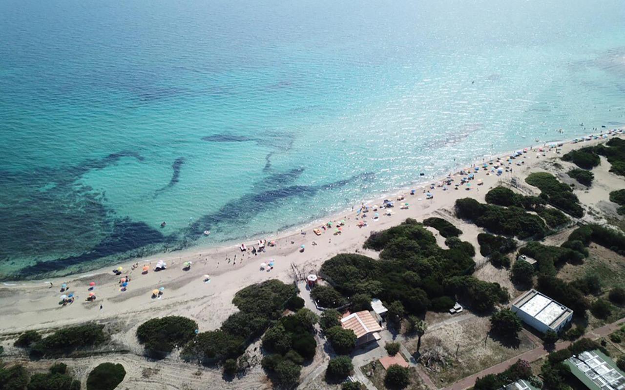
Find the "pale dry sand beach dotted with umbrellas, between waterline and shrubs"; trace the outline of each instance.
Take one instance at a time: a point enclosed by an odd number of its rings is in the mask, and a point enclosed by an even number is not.
[[[568,150],[584,147],[586,145],[597,144],[604,140],[591,140],[577,144],[566,143],[562,146],[561,154]],[[498,182],[509,183],[512,177],[516,177],[522,182],[530,170],[544,170],[545,161],[549,158],[561,156],[556,154],[555,149],[546,150],[540,153],[537,147],[529,150],[522,157],[512,160],[512,172],[504,172],[497,176],[493,173],[487,175],[487,170],[476,172],[475,179],[471,181],[471,189],[466,190],[465,185],[461,185],[458,190],[454,190],[452,184],[448,190],[436,187],[431,190],[434,198],[426,200],[423,193],[427,188],[417,187],[416,195],[404,194],[405,200],[396,200],[397,195],[392,197],[395,207],[392,208],[393,215],[386,216],[379,210],[379,219],[374,220],[374,212],[370,212],[365,218],[366,227],[357,227],[357,223],[362,220],[357,216],[356,211],[343,212],[328,220],[345,220],[342,233],[335,235],[334,230],[327,230],[321,236],[312,232],[311,227],[306,227],[301,234],[290,233],[276,240],[276,246],[267,246],[266,253],[252,255],[249,251],[241,253],[236,246],[222,248],[193,250],[184,252],[167,253],[159,256],[127,261],[120,266],[124,268],[123,275],[131,278],[126,291],[121,291],[119,278],[111,272],[114,267],[104,270],[92,271],[88,274],[68,276],[63,279],[53,279],[53,286],[48,280],[42,281],[16,281],[7,282],[0,286],[0,333],[14,333],[24,329],[42,329],[63,326],[66,324],[82,323],[89,320],[106,320],[116,318],[131,318],[138,324],[146,319],[156,316],[179,314],[189,316],[197,321],[200,331],[215,329],[222,321],[236,308],[231,300],[234,293],[244,286],[261,282],[269,278],[277,278],[282,281],[292,281],[291,263],[295,264],[299,270],[307,272],[316,270],[322,262],[336,255],[337,253],[362,250],[362,243],[372,231],[382,230],[401,223],[406,218],[416,218],[422,220],[436,212],[436,215],[444,215],[446,210],[452,210],[454,202],[461,197],[474,197],[483,202],[487,190],[497,185]],[[507,155],[506,155],[507,156]],[[502,158],[502,161],[505,159]],[[517,162],[524,164],[517,166]],[[506,163],[507,165],[507,163]],[[567,165],[562,163],[562,165]],[[606,163],[601,168],[607,167]],[[481,167],[482,162],[476,163]],[[543,167],[543,168],[541,168]],[[492,165],[489,165],[489,170]],[[471,170],[473,170],[471,168]],[[602,172],[600,175],[609,173]],[[611,174],[610,174],[611,175]],[[614,175],[612,175],[614,176]],[[454,183],[459,183],[464,176],[456,173],[452,175]],[[483,185],[477,185],[477,180],[483,180]],[[442,180],[442,178],[441,178]],[[433,181],[434,183],[437,180]],[[622,184],[622,180],[618,185]],[[601,198],[604,198],[609,188],[597,188],[601,191]],[[582,197],[581,197],[582,198]],[[585,195],[582,199],[592,201],[597,197],[592,193]],[[400,203],[408,202],[409,208],[400,209]],[[598,202],[595,200],[594,202]],[[369,204],[381,204],[369,202]],[[356,207],[357,208],[357,207]],[[318,226],[318,225],[317,225]],[[476,236],[480,231],[474,225],[466,225],[473,231],[465,230],[467,237]],[[267,240],[272,237],[266,237]],[[474,238],[473,238],[474,240]],[[316,243],[314,245],[313,243]],[[246,242],[251,249],[256,245],[256,240]],[[300,246],[305,245],[305,250],[301,252]],[[474,244],[476,245],[476,243]],[[236,255],[236,260],[235,260]],[[376,256],[371,253],[372,256]],[[228,260],[229,259],[229,260]],[[268,263],[272,259],[275,261],[274,269],[267,272],[261,271],[259,265]],[[168,263],[167,270],[156,272],[153,270],[157,260],[165,260]],[[192,261],[191,270],[183,270],[183,262]],[[131,270],[134,263],[139,263],[138,268]],[[147,275],[141,274],[141,267],[149,265],[150,270]],[[210,283],[204,283],[202,276],[209,274]],[[89,282],[94,281],[97,300],[86,302],[88,296]],[[68,283],[69,293],[74,293],[76,301],[71,305],[59,305],[59,292],[61,283]],[[164,287],[164,294],[161,298],[151,298],[151,291],[155,288]],[[100,309],[100,305],[103,308]]]

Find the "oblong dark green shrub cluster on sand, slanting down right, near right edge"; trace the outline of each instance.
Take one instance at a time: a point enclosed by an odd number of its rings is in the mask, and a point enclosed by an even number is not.
[[[529,185],[538,187],[541,190],[541,198],[554,207],[561,209],[573,217],[581,218],[584,215],[584,210],[582,210],[581,205],[579,205],[579,199],[577,195],[572,192],[571,187],[559,182],[551,173],[530,173],[525,178],[525,181]]]

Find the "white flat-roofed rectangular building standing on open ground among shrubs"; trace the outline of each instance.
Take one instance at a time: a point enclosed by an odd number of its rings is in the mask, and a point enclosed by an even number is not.
[[[573,311],[536,290],[529,290],[512,302],[512,311],[524,323],[542,333],[548,330],[561,331],[571,322]]]

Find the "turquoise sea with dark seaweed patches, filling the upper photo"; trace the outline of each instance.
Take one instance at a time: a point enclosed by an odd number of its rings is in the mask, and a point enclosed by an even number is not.
[[[5,280],[625,123],[622,0],[2,0],[0,38]]]

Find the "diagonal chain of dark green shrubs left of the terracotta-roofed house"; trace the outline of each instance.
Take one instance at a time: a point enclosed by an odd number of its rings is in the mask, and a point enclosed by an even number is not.
[[[271,320],[281,316],[295,295],[293,285],[274,279],[237,291],[232,303],[239,311],[229,316],[220,329],[197,334],[184,346],[181,357],[202,363],[236,359],[254,338],[264,333]],[[285,366],[285,373],[288,368]]]

